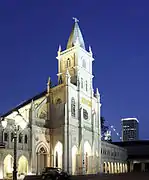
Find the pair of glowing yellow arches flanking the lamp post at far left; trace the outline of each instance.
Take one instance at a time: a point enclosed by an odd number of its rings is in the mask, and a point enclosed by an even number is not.
[[[3,176],[4,178],[12,177],[13,171],[13,157],[8,154],[4,159],[4,169]],[[25,156],[21,156],[18,159],[18,176],[26,175],[28,173],[28,160]]]

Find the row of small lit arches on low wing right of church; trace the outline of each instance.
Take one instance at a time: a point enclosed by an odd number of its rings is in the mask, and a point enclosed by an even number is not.
[[[104,162],[103,163],[104,173],[127,173],[127,164],[119,162]]]

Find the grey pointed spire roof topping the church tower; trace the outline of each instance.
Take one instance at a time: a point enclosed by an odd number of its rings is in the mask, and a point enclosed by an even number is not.
[[[77,18],[73,18],[75,23],[73,25],[71,34],[68,39],[67,49],[73,47],[75,43],[78,43],[83,49],[85,49],[84,39],[78,25],[79,20]]]

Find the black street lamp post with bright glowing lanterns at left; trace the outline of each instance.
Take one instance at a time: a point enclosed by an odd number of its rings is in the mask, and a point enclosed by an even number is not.
[[[14,161],[13,161],[13,180],[17,180],[17,132],[19,130],[19,128],[21,128],[22,130],[24,130],[26,128],[26,121],[23,118],[23,116],[17,111],[15,112],[15,124],[14,124],[14,135],[13,135],[13,139],[14,139]],[[2,119],[1,124],[3,126],[3,128],[7,127],[7,121],[5,119]]]

